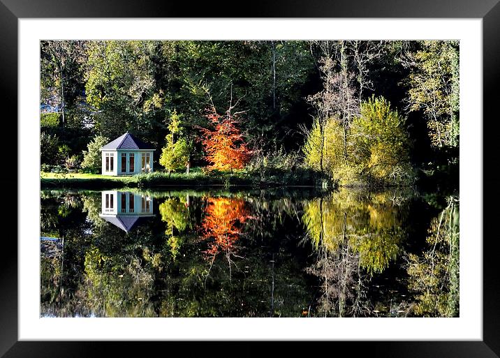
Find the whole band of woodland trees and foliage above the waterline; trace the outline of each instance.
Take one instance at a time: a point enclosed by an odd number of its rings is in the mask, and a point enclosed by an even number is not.
[[[399,108],[399,125],[389,114],[376,121],[373,113],[360,114],[372,95],[390,100],[393,112]],[[245,109],[243,118],[232,113],[233,97]],[[227,103],[222,116],[204,112]],[[404,105],[413,112],[406,120]],[[443,185],[453,184],[459,43],[47,40],[41,41],[41,106],[43,140],[57,137],[61,148],[43,149],[42,164],[66,165],[96,135],[129,130],[162,149],[158,159],[168,172],[186,163],[189,172],[191,163],[208,159],[223,171],[250,164],[242,176],[254,184],[289,179],[289,185],[323,186],[328,176],[342,185],[388,186],[413,183],[417,167],[442,172]],[[197,142],[207,117],[205,142]],[[226,119],[234,121],[235,137],[221,133]],[[98,172],[96,165],[85,168]]]

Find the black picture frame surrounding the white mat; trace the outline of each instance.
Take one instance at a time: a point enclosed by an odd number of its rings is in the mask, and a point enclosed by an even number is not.
[[[480,18],[483,19],[483,341],[351,341],[272,343],[271,348],[286,346],[297,355],[332,348],[347,349],[349,355],[376,357],[500,357],[500,270],[497,267],[498,234],[494,232],[493,200],[499,186],[494,167],[498,130],[497,103],[500,100],[500,0],[275,0],[248,3],[205,1],[140,0],[0,0],[0,94],[4,110],[3,133],[6,148],[17,148],[17,20],[30,17],[402,17],[402,18]],[[3,112],[5,114],[6,112]],[[34,161],[35,163],[35,161]],[[33,163],[31,163],[33,164]],[[17,170],[0,178],[8,202],[17,202],[22,187],[17,184]],[[16,188],[13,191],[12,188]],[[462,190],[466,190],[463,188]],[[495,193],[497,195],[495,195]],[[10,205],[6,223],[17,221],[17,207]],[[20,208],[22,209],[22,208]],[[15,214],[14,214],[15,213]],[[9,218],[10,216],[10,218]],[[15,218],[13,217],[15,216]],[[10,219],[10,220],[9,220]],[[8,226],[8,225],[6,225]],[[175,352],[188,348],[204,355],[255,356],[267,352],[269,342],[59,342],[18,341],[17,336],[17,228],[4,228],[0,250],[0,356],[11,357],[131,357],[145,355],[152,349]],[[17,237],[17,240],[29,239]],[[277,346],[277,347],[276,347]],[[314,352],[313,351],[313,352]],[[332,351],[330,351],[332,352]],[[149,353],[151,354],[151,353]]]

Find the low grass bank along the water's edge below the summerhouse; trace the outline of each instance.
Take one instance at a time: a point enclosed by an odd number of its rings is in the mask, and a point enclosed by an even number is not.
[[[190,174],[153,172],[130,177],[109,177],[101,174],[41,173],[41,188],[166,188],[166,187],[247,186],[251,188],[277,188],[309,186],[333,188],[328,177],[315,170],[235,170],[233,172],[203,172]]]

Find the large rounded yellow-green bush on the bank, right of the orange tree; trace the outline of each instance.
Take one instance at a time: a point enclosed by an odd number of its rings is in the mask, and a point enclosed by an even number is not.
[[[302,148],[307,165],[341,185],[408,185],[414,180],[404,118],[385,98],[369,98],[348,132],[335,118],[316,119]],[[345,144],[344,144],[345,135]]]

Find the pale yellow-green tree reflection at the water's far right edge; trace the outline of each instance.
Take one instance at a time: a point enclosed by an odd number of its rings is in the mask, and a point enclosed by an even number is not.
[[[456,317],[459,314],[459,198],[432,219],[422,255],[409,254],[409,289],[416,293],[415,315]]]

